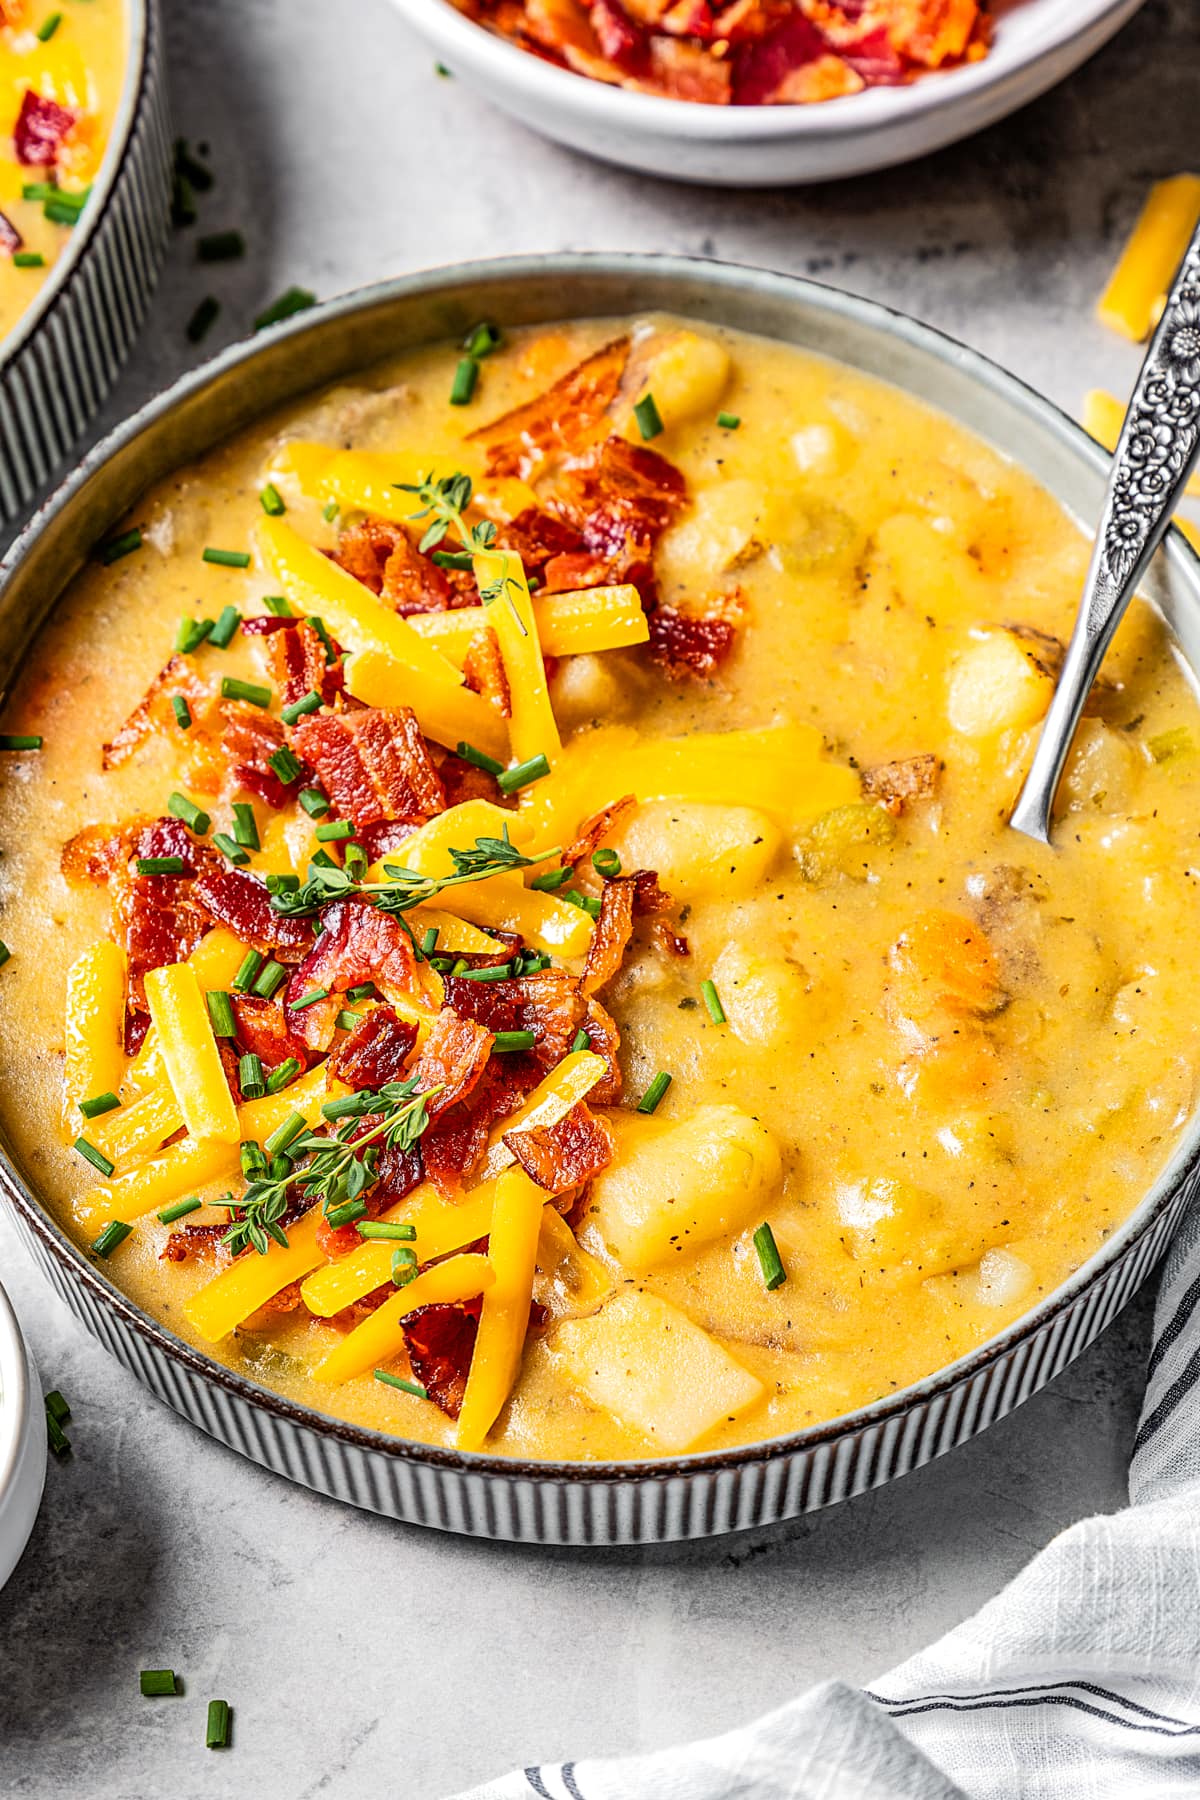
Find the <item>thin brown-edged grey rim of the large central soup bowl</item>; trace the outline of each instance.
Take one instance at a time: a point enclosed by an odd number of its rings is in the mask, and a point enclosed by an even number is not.
[[[434,297],[446,288],[453,288],[455,293],[461,293],[462,288],[475,283],[513,283],[522,277],[533,281],[545,281],[551,277],[567,284],[574,277],[587,275],[613,277],[630,283],[635,283],[639,277],[648,281],[664,281],[666,277],[666,281],[675,279],[680,283],[703,279],[711,283],[718,295],[720,292],[748,288],[750,292],[772,295],[781,302],[795,301],[817,311],[826,311],[835,317],[840,315],[876,337],[900,338],[914,349],[925,351],[936,360],[970,374],[982,389],[995,394],[999,400],[1016,403],[1018,409],[1036,419],[1038,425],[1042,425],[1049,436],[1058,441],[1067,457],[1090,464],[1090,468],[1099,475],[1105,475],[1108,470],[1108,454],[1087,436],[1083,427],[1076,425],[1076,421],[1052,401],[1045,400],[1033,387],[1002,369],[997,362],[991,362],[981,351],[968,349],[957,338],[939,331],[936,326],[919,324],[907,313],[896,311],[880,301],[867,301],[860,295],[844,293],[838,288],[808,281],[799,275],[784,275],[748,265],[714,263],[703,257],[687,256],[572,252],[480,259],[473,263],[452,263],[439,268],[419,270],[410,275],[399,275],[392,281],[356,288],[311,308],[288,324],[275,326],[264,335],[263,340],[250,338],[246,342],[228,346],[198,369],[176,380],[171,387],[164,389],[142,405],[128,419],[117,425],[108,437],[95,445],[74,473],[32,515],[20,536],[11,544],[9,551],[0,560],[0,601],[7,594],[7,589],[14,580],[27,551],[41,536],[41,531],[61,513],[70,509],[76,495],[88,484],[92,475],[108,461],[110,455],[126,448],[144,432],[153,430],[180,401],[200,392],[209,383],[225,380],[230,371],[236,371],[259,355],[268,353],[282,338],[304,338],[309,333],[320,333],[326,324],[333,320],[353,317],[356,313],[369,313],[376,306],[387,306],[389,302],[399,299]],[[563,301],[565,306],[560,315],[561,319],[585,317],[583,313],[572,313],[567,288],[563,292]],[[631,310],[637,308],[633,306]],[[820,353],[817,351],[811,355]],[[363,369],[365,367],[369,365],[363,365]],[[873,378],[883,380],[882,376]],[[309,389],[308,392],[318,392],[322,385],[329,385],[329,382],[318,383],[318,387]],[[898,391],[905,392],[903,387],[898,387]],[[277,400],[275,405],[300,400],[304,392],[304,389],[290,391],[290,394]],[[919,396],[916,398],[921,405],[932,405]],[[270,405],[263,410],[268,412]],[[934,407],[934,410],[937,409]],[[245,427],[237,427],[236,430],[239,428]],[[972,427],[966,428],[972,430]],[[975,428],[975,436],[984,434]],[[207,454],[207,450],[214,448],[219,441],[219,437],[214,437],[205,450],[198,450],[196,454]],[[162,473],[166,475],[167,470],[162,470]],[[158,479],[162,479],[162,475]],[[1191,545],[1178,529],[1171,527],[1160,554],[1166,558],[1166,567],[1180,576],[1182,585],[1191,590],[1193,603],[1200,607],[1200,556],[1193,553]],[[38,630],[41,628],[41,623],[50,617],[63,592],[65,587],[59,589],[54,599],[45,607]],[[79,1249],[79,1246],[54,1222],[49,1208],[40,1204],[4,1147],[0,1147],[0,1193],[14,1204],[27,1226],[41,1240],[54,1260],[74,1280],[81,1282],[83,1287],[103,1307],[106,1307],[108,1312],[115,1314],[124,1325],[128,1325],[140,1337],[148,1339],[173,1363],[182,1364],[189,1373],[200,1377],[201,1381],[216,1382],[219,1388],[225,1388],[230,1395],[234,1395],[234,1399],[261,1408],[277,1420],[295,1426],[300,1431],[313,1431],[320,1436],[335,1438],[340,1444],[376,1456],[425,1463],[435,1469],[482,1474],[484,1478],[502,1481],[529,1480],[551,1485],[563,1481],[592,1485],[613,1485],[622,1481],[667,1483],[671,1480],[685,1480],[693,1474],[788,1460],[840,1438],[860,1436],[865,1431],[883,1426],[887,1420],[903,1417],[914,1404],[930,1406],[939,1399],[946,1399],[963,1382],[972,1381],[982,1373],[982,1370],[1000,1363],[1016,1345],[1043,1332],[1056,1318],[1072,1310],[1090,1287],[1094,1287],[1112,1267],[1124,1260],[1130,1249],[1169,1208],[1180,1181],[1184,1179],[1187,1168],[1195,1163],[1198,1152],[1200,1107],[1195,1109],[1189,1127],[1177,1145],[1168,1166],[1148,1188],[1130,1217],[1123,1220],[1123,1224],[1092,1256],[1079,1264],[1079,1267],[1067,1276],[1060,1287],[1052,1289],[1040,1305],[1004,1327],[995,1334],[995,1337],[986,1339],[966,1355],[955,1357],[955,1361],[946,1363],[930,1375],[910,1382],[907,1388],[900,1388],[896,1393],[889,1393],[865,1406],[855,1408],[849,1413],[822,1420],[820,1424],[808,1426],[801,1431],[790,1431],[721,1451],[693,1451],[682,1456],[630,1458],[626,1462],[540,1462],[524,1456],[498,1456],[484,1451],[455,1451],[439,1444],[419,1444],[412,1438],[399,1438],[365,1426],[353,1426],[342,1418],[331,1417],[329,1413],[322,1413],[317,1408],[299,1406],[295,1400],[288,1400],[282,1395],[273,1393],[270,1388],[263,1388],[246,1375],[225,1368],[223,1363],[214,1361],[205,1355],[205,1352],[193,1348],[193,1345],[176,1337],[158,1319],[137,1307],[128,1294],[115,1287],[115,1283],[108,1282],[101,1269],[88,1262],[85,1251]]]

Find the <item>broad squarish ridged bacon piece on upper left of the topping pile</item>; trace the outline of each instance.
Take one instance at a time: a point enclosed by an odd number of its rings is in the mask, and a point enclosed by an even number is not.
[[[416,716],[407,706],[302,718],[293,743],[313,765],[344,819],[430,819],[446,796]]]

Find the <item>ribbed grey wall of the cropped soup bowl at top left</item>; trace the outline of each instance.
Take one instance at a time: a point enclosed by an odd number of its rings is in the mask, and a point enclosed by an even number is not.
[[[171,212],[158,0],[126,0],[126,79],[83,218],[0,340],[0,531],[63,466],[130,353]]]

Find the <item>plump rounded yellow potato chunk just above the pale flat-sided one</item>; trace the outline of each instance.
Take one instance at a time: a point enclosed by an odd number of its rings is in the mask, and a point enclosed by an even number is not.
[[[696,1107],[682,1123],[633,1118],[592,1183],[588,1228],[628,1269],[653,1269],[741,1231],[779,1177],[775,1139],[739,1107]]]

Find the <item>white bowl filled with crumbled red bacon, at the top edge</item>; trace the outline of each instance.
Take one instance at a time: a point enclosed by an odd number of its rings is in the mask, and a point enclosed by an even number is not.
[[[723,187],[909,162],[1072,74],[1142,0],[398,0],[448,70],[606,162]]]

